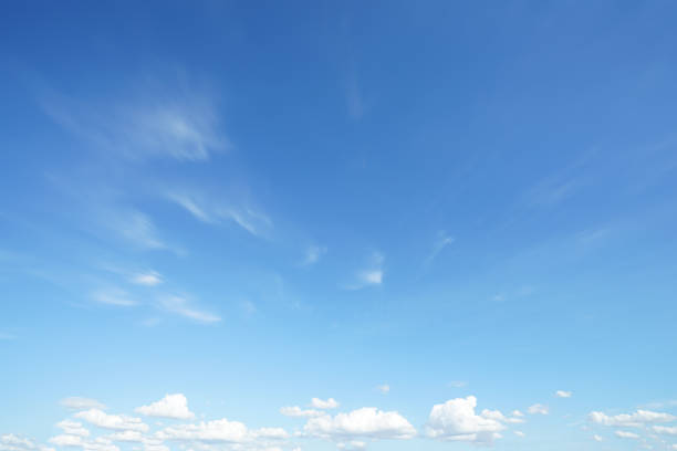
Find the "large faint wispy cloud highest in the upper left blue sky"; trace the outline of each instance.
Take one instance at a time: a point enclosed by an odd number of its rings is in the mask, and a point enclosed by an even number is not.
[[[211,95],[181,83],[144,86],[115,105],[83,104],[53,94],[45,112],[64,128],[108,155],[131,160],[199,161],[228,147]]]

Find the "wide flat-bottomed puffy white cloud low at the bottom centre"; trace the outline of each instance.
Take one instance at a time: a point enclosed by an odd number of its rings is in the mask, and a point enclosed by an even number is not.
[[[329,439],[410,439],[416,429],[398,412],[363,407],[347,413],[311,418],[304,426],[308,436]]]

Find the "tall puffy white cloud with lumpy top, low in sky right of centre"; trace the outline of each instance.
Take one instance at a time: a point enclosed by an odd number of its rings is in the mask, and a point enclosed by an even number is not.
[[[506,426],[499,419],[503,415],[498,410],[485,410],[477,415],[477,398],[450,399],[445,403],[435,405],[426,424],[429,438],[448,441],[487,442],[500,438],[500,431]]]

